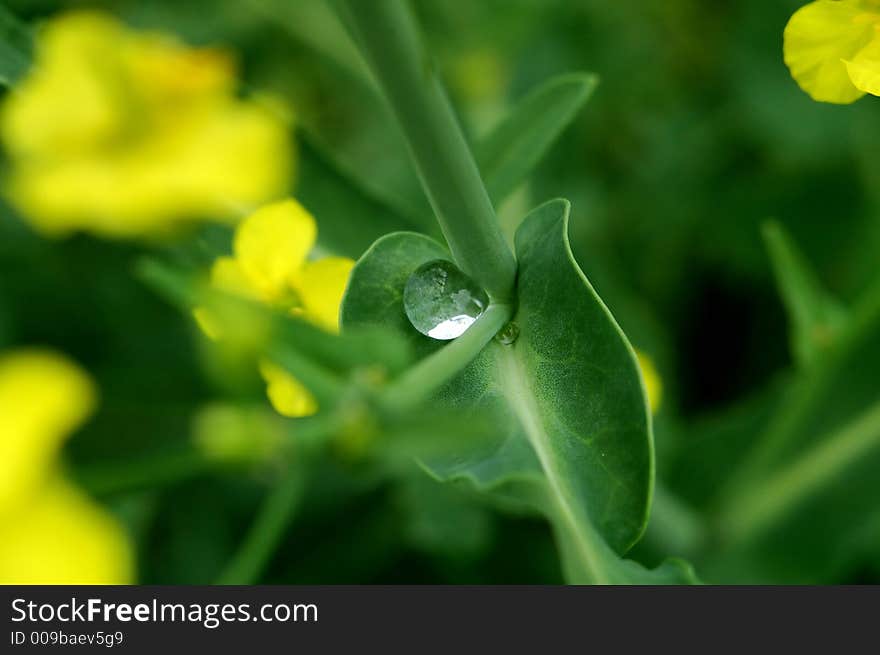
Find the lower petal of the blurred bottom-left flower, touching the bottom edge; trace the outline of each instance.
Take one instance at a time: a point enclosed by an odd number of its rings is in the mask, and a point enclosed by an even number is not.
[[[0,584],[130,584],[133,578],[122,528],[60,478],[0,522]]]

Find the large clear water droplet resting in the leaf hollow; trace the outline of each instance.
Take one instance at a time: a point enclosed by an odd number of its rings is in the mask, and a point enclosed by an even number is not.
[[[488,305],[486,292],[445,259],[419,266],[403,290],[407,318],[432,339],[460,337]]]

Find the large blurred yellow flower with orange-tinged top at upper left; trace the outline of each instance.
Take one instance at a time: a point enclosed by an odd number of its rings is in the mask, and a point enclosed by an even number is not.
[[[288,126],[235,95],[231,57],[98,12],[51,21],[8,94],[6,195],[48,235],[163,233],[283,196]]]

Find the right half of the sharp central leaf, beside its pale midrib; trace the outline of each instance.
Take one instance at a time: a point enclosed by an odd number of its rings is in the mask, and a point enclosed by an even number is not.
[[[492,349],[484,384],[500,383],[562,509],[625,552],[648,513],[650,416],[632,349],[574,261],[568,212],[547,203],[517,231],[520,336]]]

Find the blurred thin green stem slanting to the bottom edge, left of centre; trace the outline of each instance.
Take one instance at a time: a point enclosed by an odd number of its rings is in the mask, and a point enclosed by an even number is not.
[[[299,507],[305,477],[298,468],[287,472],[269,492],[241,547],[217,579],[217,584],[246,585],[259,580],[284,531]]]

